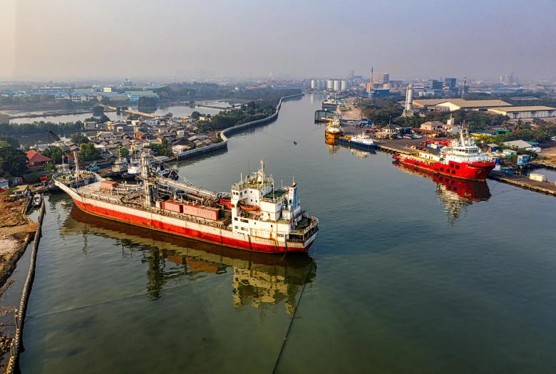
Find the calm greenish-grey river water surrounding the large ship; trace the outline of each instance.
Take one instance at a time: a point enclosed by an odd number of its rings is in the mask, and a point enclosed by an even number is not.
[[[553,372],[556,199],[326,145],[323,99],[284,103],[226,152],[180,162],[211,190],[260,159],[274,180],[294,177],[321,222],[309,256],[208,246],[48,197],[22,372]]]

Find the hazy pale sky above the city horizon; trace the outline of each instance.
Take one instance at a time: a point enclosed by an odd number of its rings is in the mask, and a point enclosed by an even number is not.
[[[0,78],[556,76],[556,0],[0,0]]]

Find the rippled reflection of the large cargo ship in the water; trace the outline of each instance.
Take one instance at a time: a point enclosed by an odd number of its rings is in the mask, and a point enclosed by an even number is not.
[[[236,308],[264,309],[284,301],[286,313],[292,314],[297,294],[316,276],[316,264],[307,254],[287,254],[282,259],[231,249],[93,217],[77,207],[71,209],[61,233],[83,235],[84,251],[92,234],[116,239],[122,256],[142,255],[141,261],[148,263],[147,290],[153,300],[161,297],[163,287],[173,279],[185,276],[195,281],[210,274],[230,274]],[[168,266],[168,261],[179,267]]]

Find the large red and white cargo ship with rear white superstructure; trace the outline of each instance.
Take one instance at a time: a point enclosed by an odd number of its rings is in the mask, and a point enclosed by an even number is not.
[[[231,193],[160,177],[149,155],[141,165],[138,185],[118,185],[77,167],[53,180],[84,212],[182,237],[267,253],[307,251],[316,239],[319,220],[302,209],[296,183],[275,188],[262,160]]]

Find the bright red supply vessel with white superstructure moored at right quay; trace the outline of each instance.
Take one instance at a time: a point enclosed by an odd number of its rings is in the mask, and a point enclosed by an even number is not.
[[[406,165],[463,180],[485,180],[495,167],[475,145],[465,124],[460,125],[460,138],[442,147],[438,154],[418,150],[410,155],[393,155],[393,158]]]

